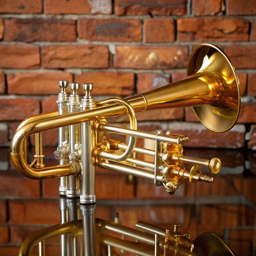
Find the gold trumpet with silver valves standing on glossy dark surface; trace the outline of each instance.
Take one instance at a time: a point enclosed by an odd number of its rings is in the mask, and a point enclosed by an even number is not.
[[[171,131],[164,133],[162,130],[137,130],[135,112],[191,106],[200,122],[214,132],[230,130],[236,124],[240,112],[240,89],[236,71],[221,49],[207,43],[193,49],[185,79],[129,99],[115,97],[96,102],[92,96],[92,83],[83,84],[84,97],[77,94],[80,83],[70,83],[70,95],[66,91],[68,81],[59,81],[59,86],[61,92],[58,94],[58,111],[29,117],[20,124],[11,142],[11,159],[16,169],[26,177],[60,177],[59,194],[69,199],[79,198],[83,206],[96,202],[96,167],[152,180],[156,186],[164,186],[170,194],[175,193],[185,180],[191,183],[213,182],[212,177],[201,173],[201,166],[207,167],[213,174],[220,171],[221,162],[216,157],[208,160],[183,155],[182,146],[188,141],[186,135],[173,134]],[[108,117],[121,114],[128,115],[130,128],[107,123]],[[42,132],[54,128],[59,129],[59,145],[54,152],[59,165],[45,166]],[[129,141],[126,144],[109,139],[108,133],[126,135]],[[28,164],[26,140],[32,134],[36,136],[35,155],[31,164]],[[153,140],[155,148],[136,146],[137,138]],[[136,159],[133,153],[149,155],[154,161]],[[191,170],[187,171],[184,164],[191,164]],[[94,227],[95,223],[91,226]],[[142,226],[145,229],[147,225]],[[187,234],[178,236],[175,230],[169,230],[168,233],[163,230],[158,232],[155,228],[146,229],[154,230],[155,236],[161,234],[164,241],[168,240],[168,243],[155,240],[155,248],[159,244],[163,245],[164,250],[170,244],[177,248],[180,245],[188,248]],[[170,232],[174,232],[172,236],[177,239],[170,239]],[[102,238],[105,242],[110,240]],[[190,242],[189,246],[184,255],[194,255]],[[170,248],[173,252],[176,250],[175,255],[183,252],[182,249]],[[95,250],[89,251],[84,252],[84,255],[96,255]],[[155,249],[153,255],[158,254],[159,250]]]

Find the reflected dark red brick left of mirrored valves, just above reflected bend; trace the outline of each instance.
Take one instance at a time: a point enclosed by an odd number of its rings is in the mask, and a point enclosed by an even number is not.
[[[57,224],[60,223],[58,201],[11,201],[10,222],[14,224]]]

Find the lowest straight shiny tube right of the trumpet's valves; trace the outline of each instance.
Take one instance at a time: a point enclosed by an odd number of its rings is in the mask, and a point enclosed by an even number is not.
[[[132,174],[137,177],[154,180],[154,173],[152,171],[148,171],[141,167],[120,163],[114,160],[100,159],[98,166],[108,170],[117,171],[119,173]],[[157,181],[162,183],[162,177],[157,176]]]

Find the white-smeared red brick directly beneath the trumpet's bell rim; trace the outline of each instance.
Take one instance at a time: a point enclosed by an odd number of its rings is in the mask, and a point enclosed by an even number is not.
[[[243,148],[245,144],[245,127],[243,125],[236,125],[228,132],[216,133],[208,130],[202,124],[171,123],[169,130],[174,134],[189,137],[189,142],[184,144],[185,147]]]

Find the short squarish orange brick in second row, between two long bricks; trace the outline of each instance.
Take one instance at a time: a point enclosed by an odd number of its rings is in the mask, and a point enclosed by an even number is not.
[[[168,43],[175,41],[175,24],[172,18],[146,19],[145,42]]]

